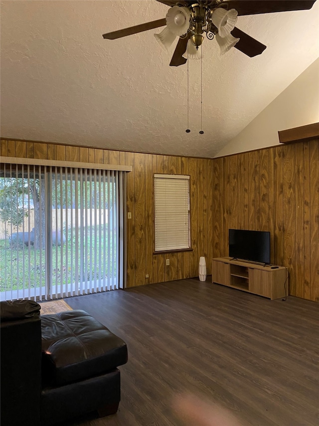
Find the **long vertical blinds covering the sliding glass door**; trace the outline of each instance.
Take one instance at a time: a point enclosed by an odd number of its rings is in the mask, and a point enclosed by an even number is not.
[[[46,300],[124,285],[126,174],[3,164],[1,300]]]

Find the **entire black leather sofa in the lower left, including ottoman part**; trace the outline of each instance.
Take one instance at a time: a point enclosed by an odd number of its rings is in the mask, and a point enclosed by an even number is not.
[[[1,426],[49,426],[117,412],[125,342],[85,311],[40,317],[33,301],[0,303]]]

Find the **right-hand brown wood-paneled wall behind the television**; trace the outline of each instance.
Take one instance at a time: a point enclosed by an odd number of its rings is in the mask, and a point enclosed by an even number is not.
[[[213,257],[228,228],[270,231],[271,263],[289,270],[289,294],[319,301],[319,140],[213,160]]]

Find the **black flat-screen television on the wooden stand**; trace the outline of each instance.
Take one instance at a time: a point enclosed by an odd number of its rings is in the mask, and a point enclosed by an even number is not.
[[[229,229],[229,257],[270,263],[270,232]]]

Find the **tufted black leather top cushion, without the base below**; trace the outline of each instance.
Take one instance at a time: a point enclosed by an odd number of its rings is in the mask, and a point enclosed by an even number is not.
[[[45,385],[65,385],[125,364],[127,346],[85,311],[41,316]]]

